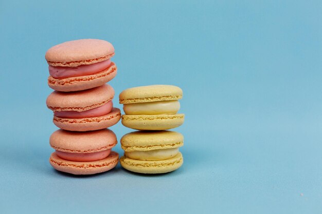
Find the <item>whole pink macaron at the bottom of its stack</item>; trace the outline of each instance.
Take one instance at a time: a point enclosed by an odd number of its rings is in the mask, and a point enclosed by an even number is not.
[[[59,129],[49,138],[56,151],[49,158],[51,166],[71,174],[95,174],[108,171],[118,163],[118,153],[111,151],[117,144],[109,129],[74,132]]]

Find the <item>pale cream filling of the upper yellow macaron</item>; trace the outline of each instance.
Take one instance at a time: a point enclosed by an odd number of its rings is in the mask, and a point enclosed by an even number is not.
[[[158,101],[149,103],[124,104],[123,110],[126,114],[176,114],[180,109],[180,103],[174,101]]]

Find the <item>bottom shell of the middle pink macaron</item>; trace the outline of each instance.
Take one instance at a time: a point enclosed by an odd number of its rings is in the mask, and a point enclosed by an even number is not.
[[[93,131],[108,128],[117,124],[121,119],[121,111],[118,108],[103,116],[95,118],[67,119],[53,116],[53,123],[61,129],[68,131]]]

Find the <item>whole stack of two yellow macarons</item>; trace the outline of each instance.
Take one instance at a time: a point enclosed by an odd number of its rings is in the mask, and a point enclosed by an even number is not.
[[[139,173],[165,173],[183,164],[179,147],[183,135],[164,131],[184,122],[184,114],[178,114],[183,92],[171,85],[151,85],[129,88],[119,95],[123,105],[122,124],[137,129],[124,135],[121,147],[123,168]]]

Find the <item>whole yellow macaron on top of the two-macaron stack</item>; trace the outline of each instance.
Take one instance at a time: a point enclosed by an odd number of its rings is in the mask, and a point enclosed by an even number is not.
[[[119,95],[125,114],[122,124],[138,130],[166,130],[183,124],[185,115],[178,114],[182,90],[171,85],[129,88]]]

